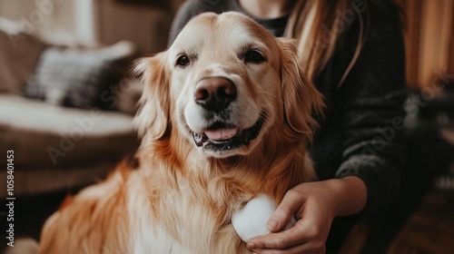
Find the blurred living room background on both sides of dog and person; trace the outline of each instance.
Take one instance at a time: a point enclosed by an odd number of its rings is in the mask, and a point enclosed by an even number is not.
[[[39,239],[44,220],[67,194],[101,181],[137,149],[133,115],[142,84],[131,67],[166,49],[183,2],[0,0],[0,249],[11,196],[6,152],[15,154],[15,239]],[[406,17],[409,86],[402,105],[409,170],[395,207],[402,212],[359,227],[344,249],[452,253],[454,0],[397,2]],[[391,233],[388,224],[402,230]]]

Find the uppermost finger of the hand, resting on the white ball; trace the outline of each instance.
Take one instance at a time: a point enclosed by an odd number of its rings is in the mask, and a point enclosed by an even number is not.
[[[301,194],[295,190],[287,191],[281,204],[279,204],[278,208],[272,213],[270,220],[268,220],[267,229],[271,232],[282,230],[295,212],[301,209],[302,204]]]

